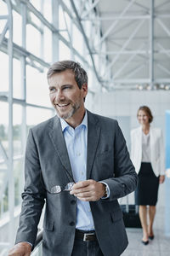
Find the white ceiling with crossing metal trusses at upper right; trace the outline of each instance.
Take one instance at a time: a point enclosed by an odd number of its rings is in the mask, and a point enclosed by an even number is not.
[[[170,1],[100,0],[95,8],[111,67],[105,83],[170,84]]]

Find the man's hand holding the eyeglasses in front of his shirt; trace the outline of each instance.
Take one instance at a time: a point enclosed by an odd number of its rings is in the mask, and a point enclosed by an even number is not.
[[[105,184],[88,179],[74,184],[70,194],[81,201],[98,201],[105,196]]]

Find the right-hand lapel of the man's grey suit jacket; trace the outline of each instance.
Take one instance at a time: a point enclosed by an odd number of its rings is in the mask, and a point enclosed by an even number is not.
[[[100,127],[98,119],[88,111],[88,158],[87,158],[87,179],[90,178],[94,157],[99,143]]]

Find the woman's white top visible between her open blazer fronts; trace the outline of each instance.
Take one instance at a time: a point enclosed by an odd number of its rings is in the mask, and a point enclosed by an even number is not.
[[[150,163],[150,133],[142,132],[142,162]]]

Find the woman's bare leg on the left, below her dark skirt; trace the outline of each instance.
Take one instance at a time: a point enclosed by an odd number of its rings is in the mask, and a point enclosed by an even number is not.
[[[139,206],[139,218],[143,229],[142,241],[148,241],[147,207]]]

